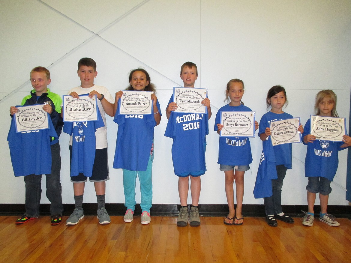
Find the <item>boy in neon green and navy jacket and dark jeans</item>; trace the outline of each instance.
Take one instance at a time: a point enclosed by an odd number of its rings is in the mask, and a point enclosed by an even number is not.
[[[23,98],[21,105],[29,106],[33,104],[44,104],[42,107],[45,112],[47,112],[56,130],[57,138],[47,137],[50,141],[51,150],[51,173],[46,174],[46,196],[51,202],[50,214],[51,214],[51,224],[57,225],[61,223],[62,206],[62,196],[61,196],[61,181],[60,181],[60,170],[61,170],[61,157],[60,157],[60,144],[58,137],[62,131],[62,117],[61,113],[61,96],[50,91],[47,87],[50,82],[50,72],[44,67],[35,67],[31,71],[31,83],[33,90],[31,94]],[[18,112],[18,108],[11,106],[10,114],[11,117]],[[32,132],[33,133],[33,132]],[[32,134],[31,133],[31,134]],[[40,142],[37,142],[40,144]],[[29,147],[29,146],[28,146]],[[34,151],[34,150],[33,150]],[[44,153],[41,150],[37,150],[36,153],[41,153],[43,156],[42,166],[49,165],[50,163],[45,162]],[[32,160],[33,156],[28,156],[28,159]],[[23,167],[25,169],[25,167]],[[38,218],[39,216],[39,205],[41,197],[41,174],[29,174],[24,177],[26,184],[26,212],[18,220],[16,224],[23,224],[29,220]]]

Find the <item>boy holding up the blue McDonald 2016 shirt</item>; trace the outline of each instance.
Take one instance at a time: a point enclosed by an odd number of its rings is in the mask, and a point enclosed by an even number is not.
[[[185,88],[194,88],[198,77],[197,66],[192,62],[185,62],[180,68],[180,78]],[[200,175],[205,174],[206,135],[208,134],[208,119],[211,117],[211,103],[206,97],[201,104],[207,107],[207,114],[188,114],[174,112],[178,108],[173,102],[173,95],[166,108],[168,119],[165,136],[173,139],[172,159],[174,173],[178,176],[178,191],[180,211],[177,225],[185,227],[190,217],[190,225],[200,225],[199,198],[201,190]],[[188,116],[191,116],[188,118]],[[191,207],[188,213],[187,198],[191,191]]]

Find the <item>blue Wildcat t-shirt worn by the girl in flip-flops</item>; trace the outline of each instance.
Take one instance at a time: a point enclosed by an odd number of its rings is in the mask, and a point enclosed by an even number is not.
[[[217,131],[217,124],[220,123],[221,112],[248,112],[249,107],[240,104],[221,107],[216,114],[214,130]],[[219,137],[218,162],[224,165],[249,165],[252,163],[251,146],[248,137]]]

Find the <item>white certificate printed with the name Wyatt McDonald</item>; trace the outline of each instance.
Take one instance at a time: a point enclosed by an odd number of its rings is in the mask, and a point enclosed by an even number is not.
[[[207,89],[173,87],[173,102],[178,106],[174,112],[207,114],[207,107],[201,104],[206,97]]]

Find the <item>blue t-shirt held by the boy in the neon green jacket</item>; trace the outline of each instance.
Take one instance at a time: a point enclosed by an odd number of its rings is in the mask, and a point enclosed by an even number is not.
[[[15,176],[51,174],[50,139],[58,138],[48,115],[49,129],[16,133],[15,119],[7,135]]]

